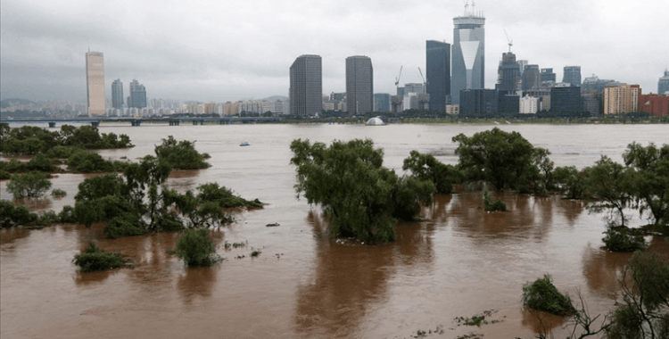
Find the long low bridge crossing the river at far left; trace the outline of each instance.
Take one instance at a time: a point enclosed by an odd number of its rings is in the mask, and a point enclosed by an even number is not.
[[[164,118],[131,118],[131,117],[77,117],[77,118],[13,118],[0,119],[0,123],[5,124],[37,124],[48,123],[49,127],[56,127],[56,124],[68,123],[89,123],[98,126],[101,122],[129,122],[132,126],[141,126],[143,122],[148,123],[169,123],[170,126],[178,126],[182,122],[192,123],[193,125],[204,124],[248,124],[278,122],[280,118],[267,117],[223,117],[223,118],[197,118],[197,117],[164,117]]]

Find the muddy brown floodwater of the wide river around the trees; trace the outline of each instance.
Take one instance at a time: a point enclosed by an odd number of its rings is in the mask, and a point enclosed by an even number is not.
[[[236,222],[212,234],[227,258],[211,268],[188,269],[167,253],[178,234],[118,240],[90,229],[56,225],[42,230],[0,230],[0,337],[10,338],[394,338],[434,330],[453,338],[530,337],[536,317],[521,307],[521,287],[549,273],[563,292],[580,290],[592,313],[606,312],[617,292],[616,272],[629,255],[600,249],[604,222],[582,203],[556,196],[499,194],[510,211],[487,213],[481,194],[436,196],[425,221],[401,223],[398,241],[377,246],[337,244],[318,208],[297,200],[289,165],[293,138],[331,142],[368,137],[384,148],[384,165],[401,172],[416,149],[456,163],[452,136],[491,126],[344,125],[178,126],[102,125],[125,133],[135,148],[100,151],[131,160],[153,154],[169,135],[196,140],[211,154],[211,168],[174,171],[168,185],[194,189],[207,182],[268,203],[235,211]],[[591,165],[600,154],[622,161],[627,144],[669,143],[669,128],[648,126],[500,126],[548,148],[556,166]],[[240,147],[249,141],[251,146]],[[53,188],[67,196],[30,202],[33,211],[60,211],[74,203],[82,175],[62,174]],[[0,194],[6,192],[0,182]],[[643,222],[632,219],[636,224]],[[279,227],[266,227],[277,222]],[[95,240],[121,252],[134,269],[80,273],[70,262]],[[224,242],[248,242],[226,250]],[[664,239],[651,246],[669,252]],[[261,254],[252,258],[251,249]],[[239,257],[239,259],[238,259]],[[496,310],[483,327],[457,327],[453,318]],[[559,319],[544,322],[561,334]],[[564,335],[558,335],[564,336]]]

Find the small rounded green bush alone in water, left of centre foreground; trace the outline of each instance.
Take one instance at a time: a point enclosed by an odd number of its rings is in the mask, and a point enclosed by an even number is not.
[[[184,230],[184,235],[177,242],[177,256],[188,266],[211,266],[220,257],[216,255],[216,245],[211,242],[210,230]]]

